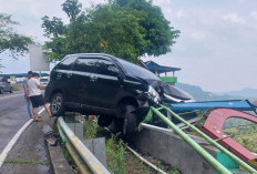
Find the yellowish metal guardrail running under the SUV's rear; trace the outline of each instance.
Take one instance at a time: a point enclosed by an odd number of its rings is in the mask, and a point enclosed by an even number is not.
[[[111,174],[86,146],[74,135],[63,117],[58,119],[58,130],[69,153],[82,174]]]

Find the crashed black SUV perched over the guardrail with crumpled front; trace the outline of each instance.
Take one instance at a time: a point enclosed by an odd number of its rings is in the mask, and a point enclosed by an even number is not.
[[[66,55],[53,68],[45,88],[53,115],[64,111],[100,115],[100,125],[114,121],[123,134],[134,132],[137,117],[132,112],[147,105],[148,99],[155,103],[192,100],[151,71],[102,53]]]

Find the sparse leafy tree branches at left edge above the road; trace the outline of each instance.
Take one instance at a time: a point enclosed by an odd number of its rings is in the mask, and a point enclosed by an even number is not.
[[[10,14],[0,13],[0,53],[9,50],[13,58],[28,51],[28,45],[32,43],[31,38],[13,31],[12,25],[16,24],[19,23],[11,20]]]

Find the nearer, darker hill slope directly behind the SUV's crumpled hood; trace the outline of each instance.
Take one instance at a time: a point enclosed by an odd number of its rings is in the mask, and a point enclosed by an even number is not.
[[[176,88],[189,93],[195,101],[223,101],[223,100],[241,100],[246,99],[239,95],[229,95],[229,94],[215,94],[212,92],[204,91],[201,86],[185,84],[185,83],[177,83]]]

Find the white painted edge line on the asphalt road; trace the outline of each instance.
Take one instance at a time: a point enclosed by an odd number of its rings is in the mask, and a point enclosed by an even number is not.
[[[42,109],[41,111],[39,111],[39,114],[41,114],[44,111],[44,109]],[[12,137],[12,140],[8,143],[8,145],[4,147],[4,150],[2,151],[1,155],[0,155],[0,168],[8,155],[8,153],[11,151],[12,146],[16,144],[16,142],[18,141],[18,139],[20,137],[21,133],[30,125],[30,123],[33,122],[33,119],[30,119],[18,132],[17,134]]]

